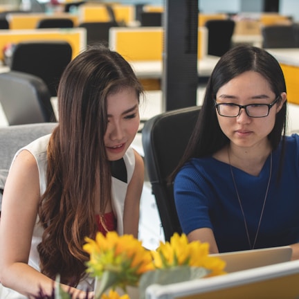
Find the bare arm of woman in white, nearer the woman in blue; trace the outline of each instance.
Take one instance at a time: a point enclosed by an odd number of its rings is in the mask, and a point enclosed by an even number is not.
[[[138,237],[139,208],[144,183],[143,158],[134,150],[135,168],[127,188],[124,210],[124,234]]]

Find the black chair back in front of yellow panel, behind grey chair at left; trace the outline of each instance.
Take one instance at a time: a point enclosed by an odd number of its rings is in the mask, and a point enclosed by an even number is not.
[[[12,53],[10,69],[42,78],[51,96],[57,96],[60,77],[71,58],[68,42],[20,42]]]

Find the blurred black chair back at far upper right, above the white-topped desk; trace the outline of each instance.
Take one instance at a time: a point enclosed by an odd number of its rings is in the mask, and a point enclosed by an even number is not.
[[[298,48],[296,26],[269,25],[261,30],[263,48]]]

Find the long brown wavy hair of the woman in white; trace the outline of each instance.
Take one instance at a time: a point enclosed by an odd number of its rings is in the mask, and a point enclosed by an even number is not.
[[[60,80],[59,123],[48,145],[47,188],[39,204],[44,234],[37,249],[42,273],[53,279],[60,274],[61,282],[73,286],[84,277],[89,258],[82,251],[84,237],[98,230],[96,201],[104,215],[111,199],[107,96],[123,87],[133,87],[138,98],[143,93],[124,58],[100,45],[75,57]]]

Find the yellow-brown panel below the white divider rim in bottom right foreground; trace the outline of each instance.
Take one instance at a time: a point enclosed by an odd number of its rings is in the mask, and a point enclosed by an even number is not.
[[[273,278],[260,282],[244,284],[238,287],[228,287],[208,293],[199,293],[191,296],[176,297],[177,299],[298,299],[299,274],[287,275],[283,278]]]

